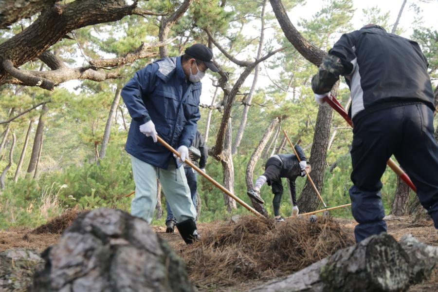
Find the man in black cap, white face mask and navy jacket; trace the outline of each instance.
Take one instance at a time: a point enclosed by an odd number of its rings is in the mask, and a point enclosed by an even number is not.
[[[207,69],[218,71],[212,58],[209,48],[194,44],[183,56],[159,59],[137,71],[121,92],[132,117],[125,146],[131,155],[135,182],[131,214],[151,222],[157,204],[158,178],[187,244],[199,235],[182,161],[188,157],[188,147],[201,117],[200,80]],[[157,143],[157,135],[177,148],[181,159]]]

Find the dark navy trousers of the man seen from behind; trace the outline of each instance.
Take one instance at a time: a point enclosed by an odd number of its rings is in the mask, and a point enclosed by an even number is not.
[[[354,121],[351,211],[356,241],[386,231],[381,177],[394,155],[417,187],[421,205],[438,229],[438,145],[433,112],[424,104],[379,110]]]

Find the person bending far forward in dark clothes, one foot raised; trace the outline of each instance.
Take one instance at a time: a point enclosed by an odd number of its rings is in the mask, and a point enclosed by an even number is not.
[[[284,221],[280,215],[281,196],[283,195],[282,177],[287,178],[289,195],[292,201],[292,214],[298,215],[298,206],[296,203],[295,180],[298,176],[306,176],[304,169],[310,173],[311,166],[307,162],[303,149],[299,145],[295,145],[295,151],[300,157],[300,161],[295,154],[278,154],[271,156],[265,164],[265,173],[256,179],[254,188],[248,191],[248,195],[254,198],[260,204],[264,204],[264,200],[260,196],[260,188],[267,182],[268,186],[272,187],[274,198],[272,205],[274,207],[274,216],[277,222]]]

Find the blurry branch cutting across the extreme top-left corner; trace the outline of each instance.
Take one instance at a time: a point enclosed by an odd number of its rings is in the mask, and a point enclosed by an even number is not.
[[[0,29],[43,11],[58,0],[0,0]]]

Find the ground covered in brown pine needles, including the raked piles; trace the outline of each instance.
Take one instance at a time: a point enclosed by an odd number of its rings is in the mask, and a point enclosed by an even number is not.
[[[35,230],[0,231],[0,252],[15,248],[42,252],[58,241],[73,222],[77,211],[70,211]],[[432,221],[412,217],[387,217],[388,233],[397,240],[413,234],[420,241],[438,246]],[[187,263],[187,270],[198,291],[246,291],[271,279],[301,270],[339,249],[354,244],[353,220],[323,218],[316,223],[305,218],[286,222],[243,216],[234,221],[200,223],[202,241],[186,246],[180,235],[166,234],[156,226]],[[25,273],[28,278],[32,273]],[[23,274],[24,277],[24,274]],[[24,282],[29,283],[29,279]],[[21,287],[19,284],[16,286]],[[12,290],[11,290],[12,291]],[[409,291],[438,291],[438,274]]]

